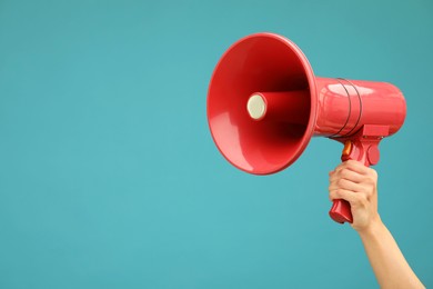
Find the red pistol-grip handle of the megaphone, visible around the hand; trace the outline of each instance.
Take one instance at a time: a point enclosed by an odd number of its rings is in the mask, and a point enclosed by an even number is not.
[[[346,140],[341,156],[342,161],[358,160],[366,167],[375,165],[379,161],[379,139]],[[330,217],[340,223],[353,222],[351,206],[346,200],[334,200],[330,210]]]

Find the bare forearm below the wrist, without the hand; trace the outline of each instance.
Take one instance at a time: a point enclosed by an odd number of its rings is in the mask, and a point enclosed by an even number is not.
[[[380,218],[359,233],[381,288],[424,288]]]

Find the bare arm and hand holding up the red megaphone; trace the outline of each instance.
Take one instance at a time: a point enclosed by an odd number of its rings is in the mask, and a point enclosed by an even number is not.
[[[381,288],[424,288],[377,212],[377,173],[353,160],[330,172],[330,199],[350,202],[358,231]]]

